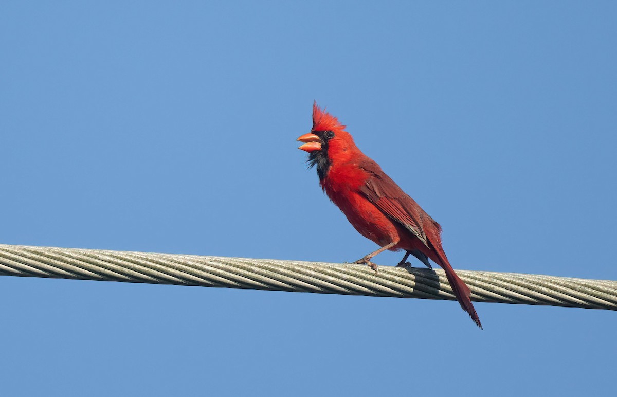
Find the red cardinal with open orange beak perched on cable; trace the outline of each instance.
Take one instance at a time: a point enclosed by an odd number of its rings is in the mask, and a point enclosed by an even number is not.
[[[390,249],[406,251],[399,265],[406,265],[412,254],[431,267],[428,258],[445,271],[463,310],[482,328],[476,309],[471,304],[471,291],[452,269],[441,246],[441,226],[410,196],[399,188],[355,146],[354,138],[333,115],[313,104],[313,128],[300,136],[299,149],[309,153],[310,166],[317,166],[319,183],[328,197],[341,209],[349,222],[381,248],[354,263],[366,264],[377,271],[371,259]]]

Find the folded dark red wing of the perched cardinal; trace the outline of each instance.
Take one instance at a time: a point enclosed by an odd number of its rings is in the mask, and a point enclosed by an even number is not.
[[[360,188],[362,194],[384,214],[407,228],[428,246],[421,223],[420,206],[384,173],[377,163],[360,164],[370,177]]]

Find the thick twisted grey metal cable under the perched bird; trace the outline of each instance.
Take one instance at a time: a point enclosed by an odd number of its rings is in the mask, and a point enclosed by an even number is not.
[[[617,282],[457,270],[471,300],[617,310]],[[456,300],[443,270],[0,244],[0,275]]]

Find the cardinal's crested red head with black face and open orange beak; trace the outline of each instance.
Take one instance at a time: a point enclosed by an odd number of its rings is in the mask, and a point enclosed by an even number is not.
[[[358,151],[354,138],[345,131],[345,126],[325,109],[322,111],[315,102],[313,102],[313,128],[297,140],[303,143],[298,149],[309,153],[310,167],[317,165],[320,179],[325,177],[334,162],[347,161],[355,151]]]

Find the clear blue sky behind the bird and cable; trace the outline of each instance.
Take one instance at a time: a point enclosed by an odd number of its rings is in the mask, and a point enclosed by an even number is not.
[[[0,5],[0,242],[373,251],[313,99],[458,269],[617,280],[615,2]],[[398,253],[378,256],[395,264]],[[0,277],[3,395],[610,395],[615,312]]]

